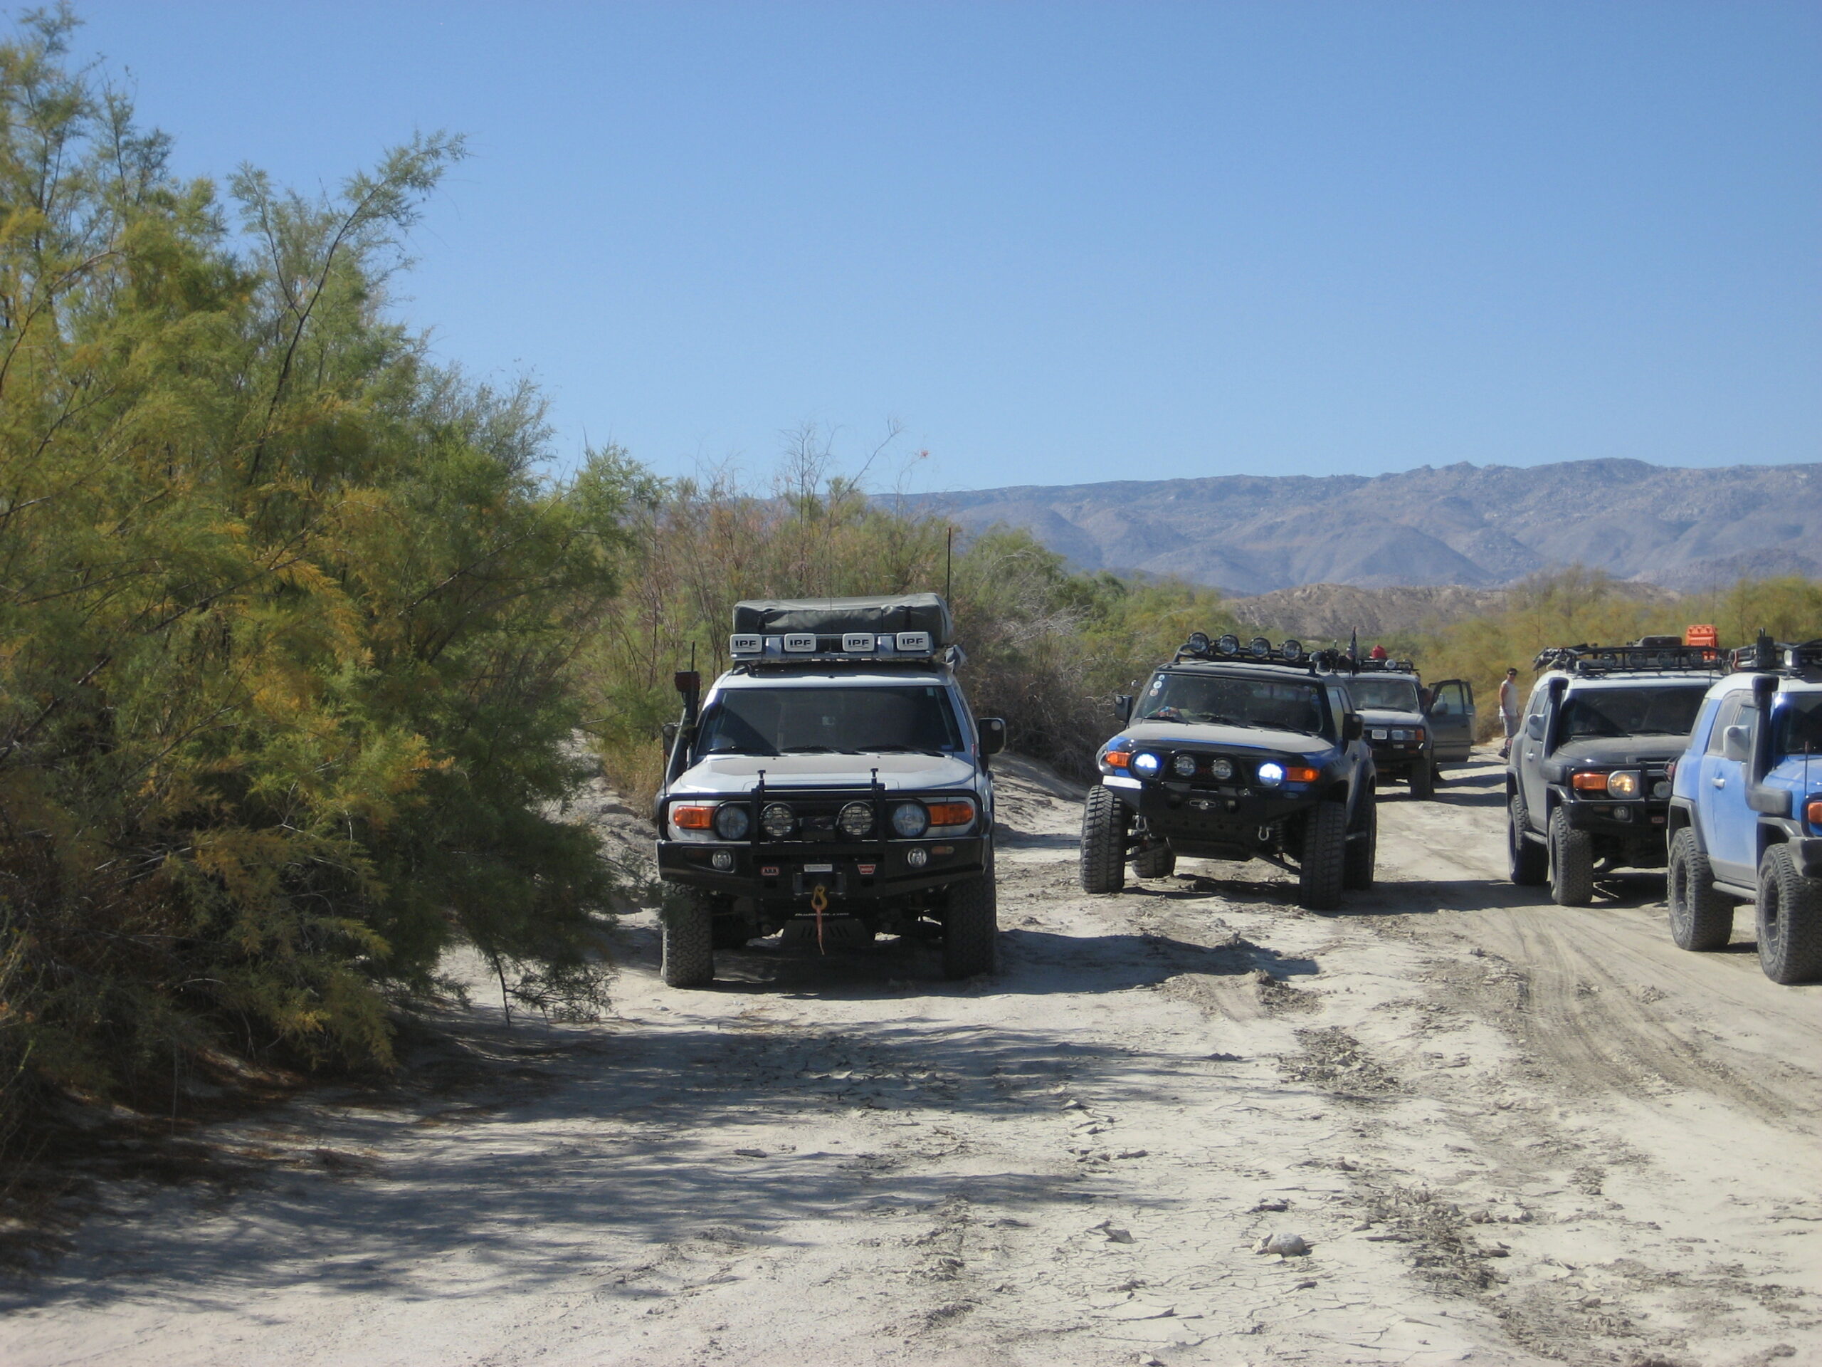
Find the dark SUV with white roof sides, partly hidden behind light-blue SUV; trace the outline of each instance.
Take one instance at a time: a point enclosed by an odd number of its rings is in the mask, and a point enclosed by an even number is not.
[[[1507,760],[1507,868],[1560,906],[1594,899],[1594,869],[1665,864],[1671,760],[1689,744],[1722,653],[1645,636],[1538,654]]]

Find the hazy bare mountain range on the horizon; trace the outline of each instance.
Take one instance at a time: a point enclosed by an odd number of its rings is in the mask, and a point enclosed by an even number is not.
[[[1569,563],[1673,589],[1822,576],[1822,465],[1448,465],[1024,485],[911,503],[967,529],[1026,527],[1082,569],[1175,574],[1239,594],[1306,583],[1490,589]]]

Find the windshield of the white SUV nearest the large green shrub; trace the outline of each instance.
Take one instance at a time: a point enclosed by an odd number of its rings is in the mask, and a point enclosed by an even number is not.
[[[703,713],[696,755],[942,755],[962,749],[933,684],[729,689]]]

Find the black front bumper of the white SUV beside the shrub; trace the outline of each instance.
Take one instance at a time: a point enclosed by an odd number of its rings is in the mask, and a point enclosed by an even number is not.
[[[922,849],[924,868],[909,855]],[[725,853],[731,868],[714,868]],[[942,888],[986,871],[988,837],[942,840],[807,842],[807,840],[660,840],[658,877],[711,893],[760,902],[807,902],[822,886],[831,900],[878,900]]]

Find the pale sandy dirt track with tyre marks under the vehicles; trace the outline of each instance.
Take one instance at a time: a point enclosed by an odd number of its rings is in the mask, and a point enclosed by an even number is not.
[[[1396,789],[1315,915],[1263,864],[1082,895],[1079,791],[1008,760],[991,979],[667,992],[630,917],[614,1019],[477,1004],[102,1183],[0,1362],[1822,1362],[1822,988],[1674,950],[1662,877],[1509,886],[1498,782]]]

